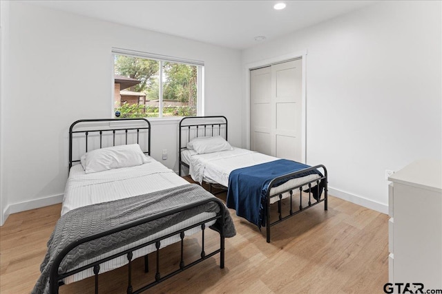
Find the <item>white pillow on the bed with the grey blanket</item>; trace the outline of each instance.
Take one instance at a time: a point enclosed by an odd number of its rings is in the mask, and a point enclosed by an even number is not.
[[[138,144],[95,149],[86,152],[80,158],[81,165],[83,165],[86,174],[108,169],[119,169],[121,167],[135,167],[149,161]]]

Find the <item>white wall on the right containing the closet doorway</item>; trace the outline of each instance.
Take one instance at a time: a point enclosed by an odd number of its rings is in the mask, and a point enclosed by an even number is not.
[[[387,212],[385,169],[441,158],[441,2],[375,3],[244,50],[242,63],[302,50],[307,163],[327,167],[332,195]]]

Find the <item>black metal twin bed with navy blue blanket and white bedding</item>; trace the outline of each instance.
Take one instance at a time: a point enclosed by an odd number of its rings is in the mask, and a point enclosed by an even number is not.
[[[227,143],[227,129],[225,116],[182,118],[178,143],[180,176],[184,166],[189,168],[193,180],[209,184],[209,191],[213,191],[212,187],[227,190],[227,207],[236,209],[238,216],[257,224],[258,228],[265,226],[267,242],[270,242],[270,228],[283,220],[320,202],[324,202],[327,210],[328,179],[324,165],[310,167],[231,147]],[[195,148],[196,143],[198,149]],[[249,185],[247,182],[257,182],[258,187],[256,190],[244,189],[242,186]],[[253,191],[260,199],[250,200]],[[294,209],[292,200],[298,197],[295,195],[298,193],[299,207]],[[305,204],[302,199],[307,196]],[[281,200],[285,198],[289,198],[290,202],[289,211],[283,216]],[[271,222],[270,205],[275,202],[278,203],[278,219]],[[259,215],[256,215],[257,212],[251,216],[249,210],[259,210]]]

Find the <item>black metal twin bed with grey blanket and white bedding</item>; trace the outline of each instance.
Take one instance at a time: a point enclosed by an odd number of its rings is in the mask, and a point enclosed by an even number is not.
[[[140,293],[216,254],[224,268],[224,238],[235,235],[221,200],[151,158],[151,125],[144,118],[77,120],[69,129],[70,174],[61,218],[48,241],[32,293],[128,264],[127,293]],[[205,252],[204,230],[217,231],[219,248]],[[184,258],[185,236],[201,232],[200,258]],[[218,235],[218,234],[217,234]],[[160,249],[180,242],[178,268],[160,273]],[[153,282],[133,289],[132,263],[155,252]],[[143,282],[144,283],[144,282]]]

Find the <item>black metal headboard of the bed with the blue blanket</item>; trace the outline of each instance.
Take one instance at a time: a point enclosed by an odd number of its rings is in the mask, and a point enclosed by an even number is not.
[[[180,138],[178,139],[178,163],[181,175],[181,151],[187,143],[199,136],[222,136],[227,140],[227,118],[225,116],[188,116],[180,121]],[[185,165],[185,164],[184,164]]]

